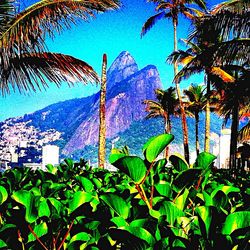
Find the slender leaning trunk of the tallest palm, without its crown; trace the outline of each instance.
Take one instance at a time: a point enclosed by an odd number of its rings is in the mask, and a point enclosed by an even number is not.
[[[177,51],[177,20],[173,19],[174,26],[174,51]],[[178,64],[174,63],[174,75],[176,76],[178,73]],[[184,155],[185,160],[189,163],[189,147],[188,147],[188,127],[187,127],[187,118],[185,109],[182,102],[181,90],[179,86],[178,80],[175,81],[176,93],[180,103],[180,111],[181,111],[181,121],[182,121],[182,130],[183,130],[183,146],[184,146]]]

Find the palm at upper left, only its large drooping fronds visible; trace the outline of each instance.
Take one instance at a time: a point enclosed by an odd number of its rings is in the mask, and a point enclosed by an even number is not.
[[[0,2],[0,89],[20,92],[47,87],[47,80],[57,86],[62,81],[97,82],[92,67],[71,56],[48,53],[45,34],[53,37],[75,23],[88,20],[95,13],[119,7],[115,0],[41,0],[17,13],[18,1]]]

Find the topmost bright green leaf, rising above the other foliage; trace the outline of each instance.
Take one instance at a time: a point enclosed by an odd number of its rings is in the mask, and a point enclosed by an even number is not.
[[[161,134],[150,139],[143,147],[143,153],[147,161],[153,162],[159,154],[173,141],[174,136],[171,134]]]

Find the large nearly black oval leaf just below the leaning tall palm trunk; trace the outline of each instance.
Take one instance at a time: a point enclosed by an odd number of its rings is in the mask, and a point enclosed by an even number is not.
[[[188,188],[195,184],[198,181],[201,171],[201,169],[190,168],[179,173],[173,181],[176,191],[179,192],[183,188]]]

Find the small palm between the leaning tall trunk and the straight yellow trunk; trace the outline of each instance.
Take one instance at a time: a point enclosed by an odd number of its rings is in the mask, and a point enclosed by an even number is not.
[[[194,115],[195,118],[195,145],[197,156],[200,153],[199,145],[199,113],[204,110],[207,98],[204,95],[205,88],[203,85],[192,84],[184,94],[187,97],[187,110]]]

